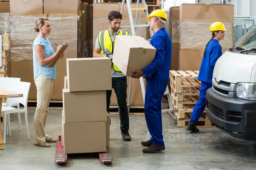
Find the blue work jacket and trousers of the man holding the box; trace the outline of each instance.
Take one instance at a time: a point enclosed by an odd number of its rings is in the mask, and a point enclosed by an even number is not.
[[[172,40],[165,28],[160,28],[151,38],[150,44],[157,49],[155,59],[143,69],[147,80],[145,93],[145,119],[150,141],[155,145],[164,145],[162,134],[161,101],[169,80],[172,57]]]

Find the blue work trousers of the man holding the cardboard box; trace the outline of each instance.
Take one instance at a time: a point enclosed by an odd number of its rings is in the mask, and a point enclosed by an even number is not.
[[[147,79],[145,93],[145,119],[148,131],[151,134],[150,141],[155,145],[164,145],[162,130],[161,101],[166,91],[168,80]]]

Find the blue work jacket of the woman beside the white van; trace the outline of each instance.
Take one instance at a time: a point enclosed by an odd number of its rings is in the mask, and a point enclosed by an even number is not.
[[[212,74],[215,63],[221,57],[222,50],[218,40],[212,39],[206,47],[205,55],[201,62],[198,80],[212,83]]]

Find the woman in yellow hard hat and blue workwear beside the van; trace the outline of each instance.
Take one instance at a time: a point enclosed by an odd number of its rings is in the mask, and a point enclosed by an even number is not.
[[[224,39],[225,26],[221,22],[212,23],[210,26],[210,32],[212,32],[212,39],[207,43],[206,47],[202,52],[202,63],[198,75],[198,80],[201,81],[200,98],[195,104],[192,116],[186,130],[191,132],[199,132],[196,127],[201,114],[204,112],[206,107],[206,91],[212,87],[212,74],[216,61],[222,55],[220,40]]]

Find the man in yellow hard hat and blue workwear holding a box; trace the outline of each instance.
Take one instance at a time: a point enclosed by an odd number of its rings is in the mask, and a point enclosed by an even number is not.
[[[149,14],[150,29],[154,32],[150,44],[157,49],[155,59],[145,69],[134,70],[132,78],[140,78],[145,75],[147,88],[145,93],[145,119],[151,139],[141,142],[148,148],[144,153],[154,153],[165,150],[162,135],[162,109],[161,101],[169,81],[170,62],[172,57],[172,40],[165,28],[167,21],[166,12],[154,10]]]

